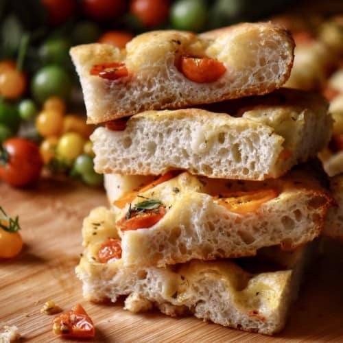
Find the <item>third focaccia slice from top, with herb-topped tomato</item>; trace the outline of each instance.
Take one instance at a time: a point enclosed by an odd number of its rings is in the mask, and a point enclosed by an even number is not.
[[[292,250],[313,240],[333,200],[309,169],[265,182],[169,173],[123,193],[113,202],[123,263],[164,267],[255,255],[266,246]]]

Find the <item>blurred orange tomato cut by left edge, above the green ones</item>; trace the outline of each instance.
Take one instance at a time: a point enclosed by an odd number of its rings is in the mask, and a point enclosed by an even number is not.
[[[5,68],[0,73],[0,95],[8,99],[21,97],[26,89],[26,78],[21,71]]]

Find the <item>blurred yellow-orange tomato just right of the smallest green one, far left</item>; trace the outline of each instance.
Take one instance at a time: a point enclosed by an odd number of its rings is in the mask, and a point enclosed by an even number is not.
[[[58,136],[62,125],[63,115],[56,110],[43,110],[36,117],[36,129],[43,137]]]

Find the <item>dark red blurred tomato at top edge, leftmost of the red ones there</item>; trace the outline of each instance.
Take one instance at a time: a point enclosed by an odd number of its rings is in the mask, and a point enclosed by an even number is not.
[[[67,21],[76,10],[75,0],[43,0],[48,12],[49,23],[58,25]]]

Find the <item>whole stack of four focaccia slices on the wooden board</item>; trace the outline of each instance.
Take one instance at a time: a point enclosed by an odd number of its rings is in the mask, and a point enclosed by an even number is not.
[[[71,49],[110,201],[84,220],[86,298],[283,328],[333,204],[307,162],[331,137],[327,102],[280,88],[293,50],[269,23]]]

